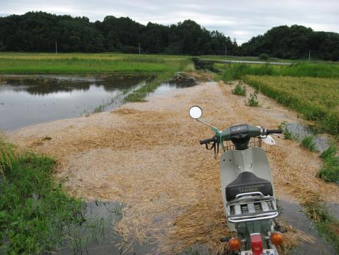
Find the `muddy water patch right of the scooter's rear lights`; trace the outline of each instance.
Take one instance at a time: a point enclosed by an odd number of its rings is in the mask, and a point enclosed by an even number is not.
[[[285,200],[278,200],[278,206],[282,210],[281,215],[285,222],[289,223],[296,229],[309,234],[314,238],[313,244],[306,242],[297,246],[289,254],[298,255],[325,255],[335,254],[335,250],[328,244],[323,238],[316,232],[314,224],[309,220],[308,217],[302,212],[302,208],[298,204],[288,203]],[[287,232],[288,234],[288,232]]]

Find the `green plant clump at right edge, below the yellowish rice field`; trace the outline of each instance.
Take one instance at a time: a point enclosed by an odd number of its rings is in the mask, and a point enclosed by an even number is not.
[[[336,154],[337,147],[331,145],[320,155],[323,159],[323,166],[319,171],[319,176],[324,181],[339,183],[339,157]]]

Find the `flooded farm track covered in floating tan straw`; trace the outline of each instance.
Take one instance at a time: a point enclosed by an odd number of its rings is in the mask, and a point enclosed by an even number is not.
[[[155,239],[159,252],[168,254],[196,242],[221,251],[219,237],[229,231],[219,161],[198,142],[213,134],[192,120],[188,109],[201,106],[204,120],[220,129],[241,123],[277,128],[283,121],[302,120],[262,95],[259,108],[247,107],[243,97],[231,94],[231,86],[215,82],[147,99],[111,113],[33,125],[7,135],[19,147],[58,159],[56,175],[69,193],[126,203],[116,229],[130,243]],[[338,186],[316,178],[318,154],[297,142],[276,140],[275,147],[265,149],[277,197],[302,203],[317,196],[339,203]]]

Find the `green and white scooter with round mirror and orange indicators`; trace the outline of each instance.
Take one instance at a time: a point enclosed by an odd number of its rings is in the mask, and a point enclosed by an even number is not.
[[[200,140],[200,145],[214,149],[215,157],[219,146],[222,147],[222,200],[227,225],[237,234],[237,237],[221,238],[222,242],[228,242],[227,253],[278,255],[277,246],[284,240],[281,233],[284,230],[275,221],[279,212],[272,171],[261,142],[275,144],[270,134],[279,134],[282,130],[235,125],[221,131],[200,119],[202,110],[198,106],[190,108],[190,116],[215,133],[212,138]]]

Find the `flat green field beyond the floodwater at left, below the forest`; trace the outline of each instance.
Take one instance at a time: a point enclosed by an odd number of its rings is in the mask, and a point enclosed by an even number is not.
[[[0,73],[4,74],[173,73],[188,64],[188,56],[0,53]]]

